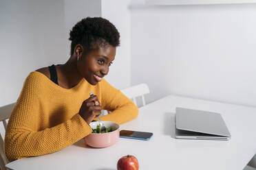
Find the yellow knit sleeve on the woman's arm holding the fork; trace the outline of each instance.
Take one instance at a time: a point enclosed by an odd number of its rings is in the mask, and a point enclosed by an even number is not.
[[[92,132],[92,128],[74,114],[71,119],[54,127],[39,129],[39,114],[42,107],[34,92],[37,88],[29,77],[25,80],[21,95],[8,121],[5,137],[5,152],[8,160],[50,154],[72,145]]]

